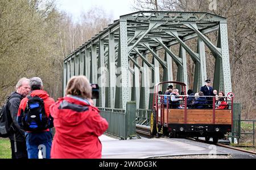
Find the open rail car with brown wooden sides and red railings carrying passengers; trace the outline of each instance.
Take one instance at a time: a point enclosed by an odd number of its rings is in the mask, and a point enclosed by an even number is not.
[[[179,109],[172,109],[168,102],[164,105],[164,99],[170,96],[159,94],[163,84],[176,84],[180,86],[182,97]],[[162,90],[161,90],[162,91]],[[163,93],[164,94],[164,93]],[[165,98],[164,98],[165,97]],[[218,139],[224,139],[233,126],[233,97],[224,96],[228,103],[226,109],[216,109],[215,96],[207,96],[212,105],[207,104],[204,109],[192,109],[187,105],[186,85],[183,82],[167,81],[160,82],[154,87],[154,100],[151,113],[151,135],[167,135],[170,138],[184,137],[210,137],[217,143]]]

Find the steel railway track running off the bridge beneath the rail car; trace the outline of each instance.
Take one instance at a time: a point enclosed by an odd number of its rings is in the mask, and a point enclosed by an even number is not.
[[[136,126],[136,132],[139,136],[142,136],[144,138],[152,138],[151,134],[150,134],[150,128],[149,127],[146,127],[146,126],[140,126],[140,125],[137,125]],[[154,136],[153,136],[154,137]],[[163,136],[164,137],[164,136]],[[166,137],[167,138],[167,137]],[[193,140],[193,141],[196,141],[196,142],[201,142],[201,143],[207,143],[207,144],[214,144],[213,142],[211,141],[208,141],[206,142],[205,140],[201,140],[201,139],[196,139],[196,138],[186,138],[188,140]],[[236,148],[236,147],[232,147],[232,146],[229,146],[229,145],[226,145],[226,144],[221,144],[221,143],[215,143],[216,146],[220,146],[220,147],[225,147],[225,148],[230,148],[232,150],[237,150],[237,151],[241,151],[241,152],[246,152],[246,153],[249,153],[249,154],[254,154],[256,155],[256,152],[253,152],[253,151],[248,151],[248,150],[243,150],[241,148]]]

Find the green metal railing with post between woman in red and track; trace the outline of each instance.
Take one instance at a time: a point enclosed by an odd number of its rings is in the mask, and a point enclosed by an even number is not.
[[[132,138],[136,136],[136,103],[127,102],[125,109],[114,109],[98,107],[101,110],[101,116],[109,123],[106,130],[108,134],[117,136],[121,139]]]

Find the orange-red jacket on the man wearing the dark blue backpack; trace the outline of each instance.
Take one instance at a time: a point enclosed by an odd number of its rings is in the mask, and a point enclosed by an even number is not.
[[[49,97],[49,94],[47,94],[44,90],[33,90],[30,94],[31,97],[38,96],[43,99],[44,101],[44,110],[46,111],[47,117],[49,117],[49,106],[51,106],[55,101],[53,98]],[[22,101],[19,104],[19,110],[18,110],[18,117],[20,117],[21,110],[25,110],[27,106],[28,98],[25,97],[22,99]],[[49,129],[45,130],[49,131]]]

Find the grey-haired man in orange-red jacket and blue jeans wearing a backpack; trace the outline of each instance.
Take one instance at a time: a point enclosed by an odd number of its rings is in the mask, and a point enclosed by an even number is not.
[[[24,111],[26,111],[26,106],[28,100],[31,98],[39,97],[40,99],[43,99],[44,103],[44,111],[39,114],[45,114],[46,117],[49,119],[50,122],[52,122],[52,117],[49,113],[49,106],[51,106],[53,103],[55,103],[54,99],[49,97],[49,94],[47,94],[46,91],[43,90],[43,81],[39,77],[33,77],[30,78],[30,86],[31,86],[31,94],[30,96],[23,98],[19,105],[19,111],[18,111],[18,122],[19,125],[22,126],[22,117],[24,114]],[[42,116],[41,116],[42,117]],[[38,159],[38,152],[39,149],[42,148],[42,156],[43,158],[49,159],[51,155],[51,146],[52,146],[52,134],[51,131],[49,131],[49,128],[53,126],[53,123],[51,125],[47,125],[45,130],[40,131],[26,131],[26,144],[27,144],[27,153],[28,153],[28,159]]]

